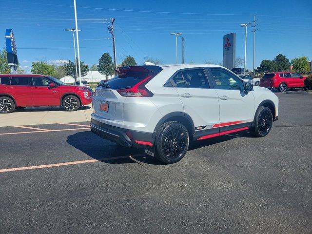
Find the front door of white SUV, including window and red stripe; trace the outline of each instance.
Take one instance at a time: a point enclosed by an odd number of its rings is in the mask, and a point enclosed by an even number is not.
[[[220,103],[220,132],[247,129],[254,121],[253,91],[245,93],[244,82],[223,68],[209,68]]]

